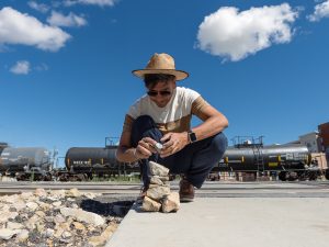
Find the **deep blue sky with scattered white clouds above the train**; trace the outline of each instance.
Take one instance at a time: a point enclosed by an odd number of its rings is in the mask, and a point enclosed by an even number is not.
[[[329,0],[0,2],[0,141],[103,146],[168,53],[179,82],[229,120],[228,138],[286,143],[329,121]],[[193,121],[197,123],[197,121]]]

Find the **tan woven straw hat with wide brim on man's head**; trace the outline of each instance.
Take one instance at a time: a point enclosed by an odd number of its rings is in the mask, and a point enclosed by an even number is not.
[[[148,61],[145,69],[133,70],[133,74],[144,79],[147,74],[167,74],[175,76],[177,80],[183,80],[189,77],[189,74],[183,70],[177,70],[174,68],[173,57],[166,54],[155,54]]]

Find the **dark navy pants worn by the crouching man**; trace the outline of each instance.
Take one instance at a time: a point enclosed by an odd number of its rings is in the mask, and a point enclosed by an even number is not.
[[[143,137],[151,137],[157,142],[160,142],[162,137],[156,123],[148,115],[141,115],[134,121],[132,130],[133,146],[136,147]],[[208,138],[189,144],[180,151],[166,158],[154,154],[149,159],[141,159],[139,162],[144,186],[149,184],[148,161],[152,160],[168,167],[171,173],[184,173],[190,183],[201,188],[213,167],[222,159],[226,148],[227,138],[220,132]]]

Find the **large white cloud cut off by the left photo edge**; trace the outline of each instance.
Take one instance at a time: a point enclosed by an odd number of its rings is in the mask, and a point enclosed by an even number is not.
[[[59,27],[45,25],[34,16],[10,7],[0,10],[0,45],[32,45],[56,52],[70,38],[70,35]]]

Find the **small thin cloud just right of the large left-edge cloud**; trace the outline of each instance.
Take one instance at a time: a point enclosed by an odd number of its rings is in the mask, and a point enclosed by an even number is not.
[[[75,13],[70,12],[67,16],[64,14],[52,11],[52,15],[47,19],[47,22],[50,25],[56,26],[82,26],[87,25],[86,19],[82,16],[76,15]]]

